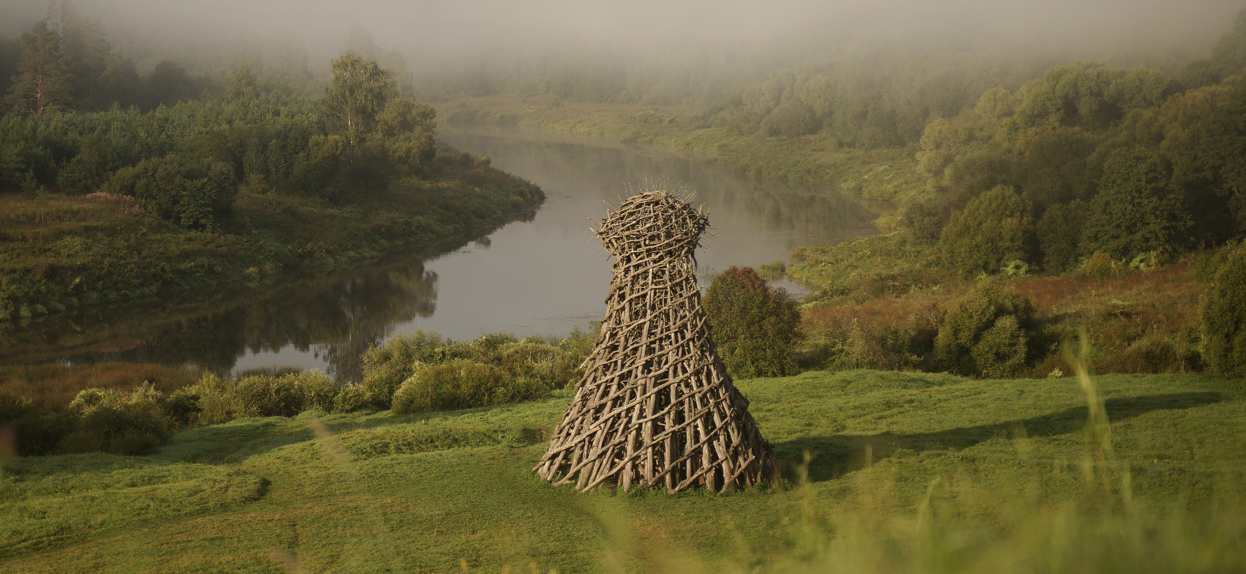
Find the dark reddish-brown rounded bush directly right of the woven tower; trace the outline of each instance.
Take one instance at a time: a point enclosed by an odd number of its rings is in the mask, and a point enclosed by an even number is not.
[[[718,356],[740,377],[784,376],[796,371],[802,339],[796,301],[773,289],[753,268],[731,266],[705,293],[705,315]]]

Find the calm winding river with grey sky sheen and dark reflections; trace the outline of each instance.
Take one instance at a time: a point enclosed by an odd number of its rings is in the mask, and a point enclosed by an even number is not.
[[[359,355],[425,329],[454,339],[486,332],[563,335],[604,311],[609,260],[588,230],[628,186],[665,178],[704,203],[713,270],[786,260],[797,245],[873,233],[876,214],[825,186],[756,179],[658,149],[523,128],[442,128],[460,149],[527,178],[547,199],[513,222],[442,253],[399,254],[264,293],[204,303],[142,303],[47,318],[5,334],[0,364],[130,360],[231,370],[316,367],[358,379]],[[782,286],[800,293],[789,283]]]

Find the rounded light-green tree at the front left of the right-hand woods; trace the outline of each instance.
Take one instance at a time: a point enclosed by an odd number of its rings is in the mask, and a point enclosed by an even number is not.
[[[939,243],[944,260],[966,275],[992,274],[1007,261],[1028,261],[1033,220],[1025,200],[996,186],[952,215]]]

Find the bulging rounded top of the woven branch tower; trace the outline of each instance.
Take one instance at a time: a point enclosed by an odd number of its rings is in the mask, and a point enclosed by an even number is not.
[[[596,233],[611,255],[622,256],[627,253],[690,252],[706,227],[709,218],[688,202],[667,192],[645,192],[608,212]]]

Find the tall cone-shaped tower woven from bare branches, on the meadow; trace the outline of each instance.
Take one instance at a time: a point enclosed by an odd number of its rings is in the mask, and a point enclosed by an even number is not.
[[[594,232],[616,258],[606,318],[584,377],[533,468],[554,486],[703,484],[773,479],[774,449],[714,354],[697,284],[709,219],[665,192],[609,212]]]

